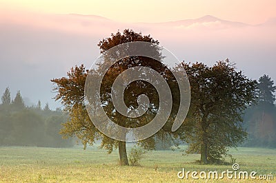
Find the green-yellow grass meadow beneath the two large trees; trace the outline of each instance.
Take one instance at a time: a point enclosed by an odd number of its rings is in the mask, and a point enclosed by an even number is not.
[[[183,150],[185,147],[181,147]],[[128,147],[130,149],[130,147]],[[107,154],[97,147],[55,149],[39,147],[0,147],[0,182],[206,182],[191,177],[180,180],[186,171],[233,171],[231,165],[199,165],[199,155],[175,151],[150,151],[141,166],[119,166],[117,151]],[[273,180],[208,180],[207,182],[276,182],[276,149],[239,148],[230,153],[239,171],[273,175]]]

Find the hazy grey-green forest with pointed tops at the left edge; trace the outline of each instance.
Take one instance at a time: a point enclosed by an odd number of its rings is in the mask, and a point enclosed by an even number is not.
[[[25,105],[20,92],[10,98],[10,89],[1,97],[0,105],[0,145],[35,147],[72,147],[71,139],[64,140],[59,131],[61,123],[67,119],[60,109],[52,111],[48,103],[41,107]]]

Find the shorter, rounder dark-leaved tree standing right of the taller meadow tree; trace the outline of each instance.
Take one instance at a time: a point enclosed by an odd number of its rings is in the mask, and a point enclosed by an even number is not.
[[[228,60],[213,67],[183,63],[190,81],[191,103],[182,138],[186,153],[200,153],[201,164],[218,163],[228,147],[246,138],[242,111],[254,100],[256,83],[237,72]]]

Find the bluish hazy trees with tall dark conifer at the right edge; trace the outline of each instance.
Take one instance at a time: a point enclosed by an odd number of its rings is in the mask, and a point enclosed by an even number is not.
[[[275,90],[276,86],[268,75],[259,78],[255,92],[257,103],[244,116],[249,137],[245,145],[275,147]]]

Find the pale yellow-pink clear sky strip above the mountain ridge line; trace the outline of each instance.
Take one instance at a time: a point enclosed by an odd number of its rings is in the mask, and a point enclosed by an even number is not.
[[[164,22],[210,14],[228,21],[263,23],[276,17],[275,0],[0,0],[0,10],[96,14],[115,21]]]

